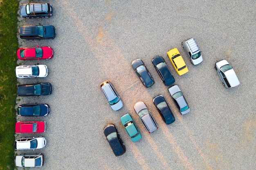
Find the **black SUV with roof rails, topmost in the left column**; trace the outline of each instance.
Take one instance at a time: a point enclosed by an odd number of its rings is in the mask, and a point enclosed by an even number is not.
[[[52,5],[45,4],[22,4],[20,5],[20,16],[29,18],[51,17],[53,14]]]

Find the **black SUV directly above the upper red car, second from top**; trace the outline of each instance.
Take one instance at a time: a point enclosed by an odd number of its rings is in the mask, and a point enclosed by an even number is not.
[[[31,25],[20,26],[21,39],[54,39],[56,36],[55,27],[52,25]]]

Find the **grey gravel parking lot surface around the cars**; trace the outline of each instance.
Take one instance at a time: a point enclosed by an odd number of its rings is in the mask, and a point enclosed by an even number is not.
[[[34,1],[34,2],[39,2]],[[40,1],[41,2],[41,1]],[[54,15],[21,19],[19,25],[54,25],[53,40],[21,40],[20,46],[51,46],[47,61],[18,61],[20,65],[45,64],[46,78],[18,79],[23,83],[49,82],[50,96],[18,97],[17,105],[47,103],[44,118],[45,148],[17,153],[43,153],[37,169],[255,169],[256,168],[256,2],[231,0],[193,3],[166,1],[46,0]],[[21,0],[20,3],[27,3]],[[189,62],[181,42],[194,37],[204,61]],[[178,48],[189,72],[178,76],[166,52]],[[161,82],[151,60],[162,55],[191,111],[182,116],[168,87]],[[133,60],[144,61],[155,80],[145,88],[132,70]],[[240,85],[226,89],[214,63],[226,59]],[[99,85],[109,80],[124,107],[113,111]],[[162,94],[176,121],[166,125],[153,104]],[[148,134],[134,111],[143,101],[159,129]],[[133,143],[120,117],[130,113],[142,139]],[[126,153],[115,157],[103,134],[109,123],[126,144]],[[38,136],[39,136],[38,135]],[[24,135],[17,134],[17,137]],[[33,135],[26,134],[26,137]]]

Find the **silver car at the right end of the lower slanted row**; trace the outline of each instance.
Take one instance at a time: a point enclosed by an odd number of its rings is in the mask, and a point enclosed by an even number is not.
[[[180,113],[182,115],[189,113],[189,105],[187,104],[186,99],[184,98],[180,88],[177,85],[173,85],[172,87],[168,88],[168,91],[173,97],[173,100],[175,101],[177,107],[180,110]]]

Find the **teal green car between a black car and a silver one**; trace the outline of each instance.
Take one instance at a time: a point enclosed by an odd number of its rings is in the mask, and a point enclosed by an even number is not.
[[[120,118],[122,124],[124,125],[128,135],[132,139],[132,142],[136,142],[141,139],[141,134],[139,133],[139,129],[137,128],[135,122],[132,120],[132,117],[129,113],[125,114]]]

